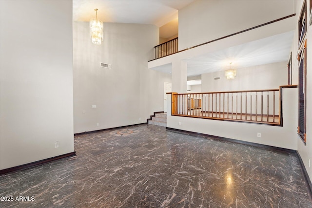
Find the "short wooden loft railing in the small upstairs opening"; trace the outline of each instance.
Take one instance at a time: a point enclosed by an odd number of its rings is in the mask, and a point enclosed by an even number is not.
[[[178,52],[178,38],[161,43],[154,47],[155,59],[169,56]]]

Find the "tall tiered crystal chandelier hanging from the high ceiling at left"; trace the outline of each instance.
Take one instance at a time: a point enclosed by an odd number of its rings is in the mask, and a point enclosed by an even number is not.
[[[103,37],[103,22],[98,19],[98,9],[96,11],[96,18],[90,19],[90,38],[92,43],[100,45],[104,39]]]

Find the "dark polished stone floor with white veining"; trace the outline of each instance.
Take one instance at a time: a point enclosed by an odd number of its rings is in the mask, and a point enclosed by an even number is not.
[[[294,153],[147,124],[75,136],[75,150],[76,157],[1,175],[1,197],[29,201],[0,207],[312,207]]]

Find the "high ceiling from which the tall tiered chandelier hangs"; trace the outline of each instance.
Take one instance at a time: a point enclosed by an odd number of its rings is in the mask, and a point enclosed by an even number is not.
[[[154,24],[158,27],[177,17],[178,10],[194,0],[73,0],[73,20]]]

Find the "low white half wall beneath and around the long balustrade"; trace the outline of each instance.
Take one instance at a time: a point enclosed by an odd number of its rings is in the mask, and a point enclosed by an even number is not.
[[[170,94],[167,96],[167,127],[297,150],[294,138],[297,136],[298,113],[293,112],[298,106],[297,99],[293,99],[297,93],[297,88],[284,89],[283,127],[172,116]],[[257,137],[258,132],[261,133],[260,138]]]

